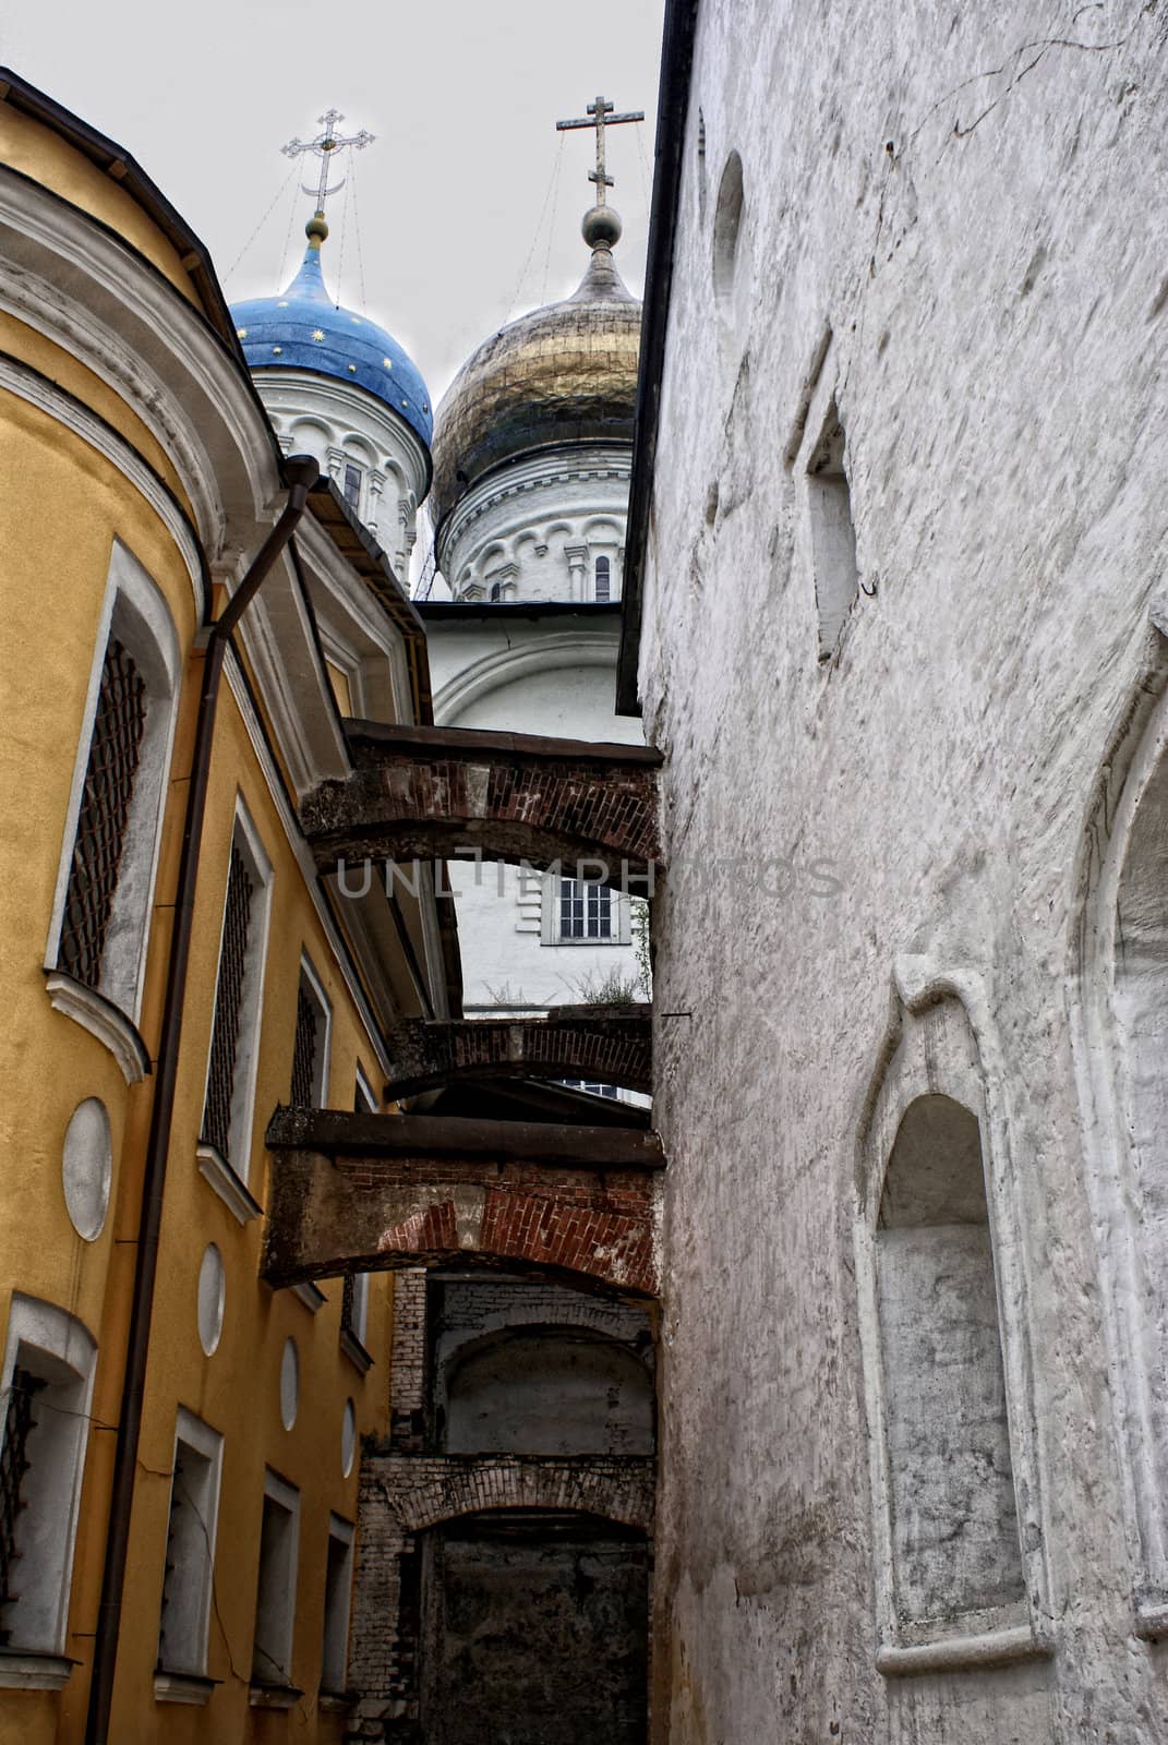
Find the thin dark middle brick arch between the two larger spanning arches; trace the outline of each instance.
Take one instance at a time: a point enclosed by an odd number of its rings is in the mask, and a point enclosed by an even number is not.
[[[475,1078],[588,1078],[653,1089],[651,1009],[557,1007],[546,1017],[407,1019],[391,1033],[388,1098]]]

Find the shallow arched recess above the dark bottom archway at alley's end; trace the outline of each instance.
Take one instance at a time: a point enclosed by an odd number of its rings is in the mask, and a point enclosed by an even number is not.
[[[648,1366],[583,1328],[527,1326],[459,1347],[438,1412],[447,1454],[653,1454]]]

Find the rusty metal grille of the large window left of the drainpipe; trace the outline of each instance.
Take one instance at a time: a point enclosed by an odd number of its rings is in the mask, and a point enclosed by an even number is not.
[[[147,726],[147,684],[124,642],[110,637],[70,862],[58,967],[101,986],[101,958]]]

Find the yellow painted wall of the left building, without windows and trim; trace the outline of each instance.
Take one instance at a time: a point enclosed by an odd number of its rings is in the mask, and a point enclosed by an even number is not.
[[[14,159],[10,122],[12,117],[3,115],[0,106],[0,150],[16,161],[19,154]],[[21,122],[21,127],[28,126]],[[106,223],[124,222],[134,246],[189,295],[180,283],[185,274],[175,269],[175,262],[166,263],[157,237],[152,241],[133,220],[136,208],[124,192],[84,161],[70,164],[68,157],[75,154],[68,154],[45,129],[38,131],[45,134],[44,141],[37,141],[37,154],[44,148],[44,157],[26,150],[19,161],[33,162],[35,157],[38,171],[58,192],[86,204]],[[124,206],[133,211],[126,213]],[[148,452],[152,438],[136,415],[73,359],[51,359],[45,346],[28,332],[21,337],[30,361],[66,382],[72,393]],[[0,1105],[7,1159],[0,1181],[0,1324],[7,1326],[12,1290],[21,1290],[77,1316],[100,1347],[65,1649],[80,1665],[59,1694],[0,1689],[0,1745],[16,1745],[17,1740],[21,1745],[73,1745],[84,1735],[154,1091],[152,1077],[126,1085],[106,1047],[73,1019],[52,1010],[44,975],[68,799],[115,539],[138,557],[164,595],[185,663],[140,1016],[152,1054],[157,1052],[166,982],[201,656],[194,653],[196,600],[187,569],[162,524],[117,468],[47,414],[10,394],[0,394],[0,445],[7,482],[0,496],[0,550],[5,553],[0,803],[7,825],[0,838],[2,1047],[7,1056],[7,1094]],[[162,464],[159,471],[164,471]],[[351,1398],[356,1406],[358,1438],[370,1431],[384,1434],[388,1427],[389,1277],[370,1281],[365,1344],[377,1361],[361,1375],[339,1347],[340,1283],[325,1286],[328,1304],[318,1314],[311,1314],[290,1291],[272,1293],[258,1279],[262,1218],[241,1227],[196,1164],[237,792],[272,864],[250,1183],[260,1202],[267,1197],[264,1127],[271,1110],[286,1101],[290,1091],[302,949],[332,1003],[328,1101],[351,1108],[358,1059],[365,1070],[375,1064],[370,1037],[333,960],[248,729],[223,686],[197,888],[115,1689],[112,1736],[134,1745],[162,1738],[264,1740],[288,1728],[307,1740],[340,1736],[339,1717],[319,1717],[318,1722],[316,1686],[328,1513],[356,1522],[358,1466],[354,1462],[347,1478],[340,1466],[346,1399]],[[110,1211],[93,1242],[73,1230],[61,1187],[65,1129],[77,1105],[89,1096],[103,1101],[113,1139]],[[216,1352],[206,1358],[197,1335],[196,1302],[199,1265],[210,1241],[218,1244],[225,1265],[225,1324]],[[286,1337],[295,1338],[300,1358],[300,1405],[292,1431],[283,1427],[279,1415],[279,1363]],[[178,1405],[223,1436],[208,1649],[208,1673],[222,1682],[208,1708],[157,1703],[154,1698]],[[248,1705],[265,1466],[300,1490],[293,1682],[306,1696],[293,1715],[262,1714]]]

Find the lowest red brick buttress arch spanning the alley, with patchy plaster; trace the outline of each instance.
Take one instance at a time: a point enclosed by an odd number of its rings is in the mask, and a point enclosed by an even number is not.
[[[656,1297],[653,1133],[283,1110],[264,1276],[508,1267]]]

